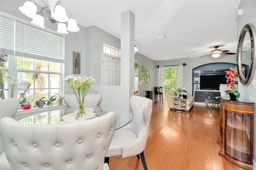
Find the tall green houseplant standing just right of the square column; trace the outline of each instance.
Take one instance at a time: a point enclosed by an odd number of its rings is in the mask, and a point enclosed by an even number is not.
[[[142,87],[142,96],[146,97],[146,85],[149,83],[151,79],[150,72],[146,69],[144,64],[142,64],[140,68],[140,74],[139,74],[139,84]]]

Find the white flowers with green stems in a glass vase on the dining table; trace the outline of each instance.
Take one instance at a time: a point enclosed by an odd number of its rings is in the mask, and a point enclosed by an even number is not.
[[[75,77],[74,75],[69,75],[65,78],[70,88],[74,90],[76,99],[78,101],[79,113],[84,113],[84,98],[90,89],[91,85],[95,84],[95,79],[93,77]],[[77,89],[77,91],[75,90]]]

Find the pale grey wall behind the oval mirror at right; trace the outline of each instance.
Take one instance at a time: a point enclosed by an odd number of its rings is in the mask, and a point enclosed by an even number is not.
[[[242,16],[238,17],[238,31],[239,34],[245,24],[252,23],[256,27],[256,1],[255,0],[241,0],[239,9],[243,9]],[[256,57],[256,56],[255,56]],[[254,73],[253,80],[256,79]],[[256,89],[253,88],[252,83],[248,86],[243,86],[238,81],[238,90],[241,93],[241,97],[256,102]],[[254,113],[256,113],[256,104],[254,105]],[[254,134],[253,134],[253,166],[256,169],[256,118],[254,117]]]

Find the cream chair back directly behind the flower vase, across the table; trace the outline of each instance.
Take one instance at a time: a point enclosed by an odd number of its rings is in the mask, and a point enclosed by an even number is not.
[[[84,107],[99,106],[102,99],[100,93],[87,94],[84,98]],[[66,94],[64,101],[68,107],[77,107],[78,102],[75,94]]]

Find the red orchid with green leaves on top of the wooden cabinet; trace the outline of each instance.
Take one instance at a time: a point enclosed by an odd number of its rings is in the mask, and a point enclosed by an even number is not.
[[[225,71],[226,72],[226,78],[227,78],[227,87],[231,90],[226,90],[225,93],[228,94],[228,93],[233,93],[234,95],[236,95],[236,98],[239,98],[240,97],[240,93],[235,90],[235,82],[236,82],[236,67],[234,68],[230,68],[228,71]]]

